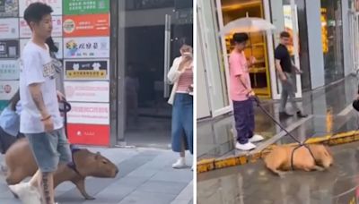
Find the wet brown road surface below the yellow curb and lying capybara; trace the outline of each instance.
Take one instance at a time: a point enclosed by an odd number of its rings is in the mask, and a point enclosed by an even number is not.
[[[359,142],[331,149],[335,164],[324,172],[295,171],[280,178],[259,161],[198,174],[197,203],[350,203],[359,192]]]

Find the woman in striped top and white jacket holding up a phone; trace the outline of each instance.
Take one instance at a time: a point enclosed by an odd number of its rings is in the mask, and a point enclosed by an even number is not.
[[[174,59],[168,79],[173,83],[169,104],[172,108],[171,146],[180,152],[173,168],[187,167],[185,150],[193,154],[193,50],[188,45],[180,47],[181,56]]]

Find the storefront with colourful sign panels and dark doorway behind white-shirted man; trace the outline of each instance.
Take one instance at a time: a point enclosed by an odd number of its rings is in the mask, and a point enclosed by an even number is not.
[[[33,2],[0,1],[0,107],[18,89],[19,57],[31,38],[22,16]],[[72,105],[69,140],[169,148],[166,75],[180,46],[193,46],[193,1],[40,2],[54,10],[52,37]]]

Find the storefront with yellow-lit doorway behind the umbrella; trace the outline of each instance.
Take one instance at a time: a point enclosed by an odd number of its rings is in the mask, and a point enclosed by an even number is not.
[[[347,17],[355,6],[353,1],[348,4],[345,0],[198,0],[197,6],[200,20],[198,38],[202,40],[199,49],[206,59],[215,59],[215,63],[197,61],[198,64],[202,63],[204,69],[203,76],[198,74],[197,81],[206,81],[207,97],[210,98],[209,111],[205,110],[206,106],[201,106],[198,111],[209,113],[207,117],[218,115],[215,99],[229,101],[227,79],[231,36],[220,37],[218,32],[229,21],[246,15],[263,18],[276,26],[273,33],[251,33],[250,45],[245,50],[247,56],[254,55],[258,60],[250,67],[250,79],[259,97],[280,98],[281,84],[276,76],[274,50],[279,43],[279,33],[283,30],[290,32],[293,37],[289,50],[293,63],[303,72],[296,77],[297,98],[302,97],[302,91],[338,81],[353,71],[356,57],[348,56],[355,49],[350,45],[357,45],[353,41],[357,38],[357,28],[353,27],[357,25],[353,22],[355,18],[350,23]],[[231,101],[221,105],[225,113],[232,110]]]

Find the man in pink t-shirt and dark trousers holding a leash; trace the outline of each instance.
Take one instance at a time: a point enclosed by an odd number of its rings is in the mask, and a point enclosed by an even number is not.
[[[255,149],[253,142],[264,140],[254,133],[254,111],[253,102],[250,97],[254,92],[250,85],[249,66],[254,63],[251,57],[249,63],[244,55],[244,49],[249,40],[246,33],[235,33],[233,35],[234,49],[231,52],[230,64],[230,97],[233,102],[235,127],[237,130],[236,149]]]

